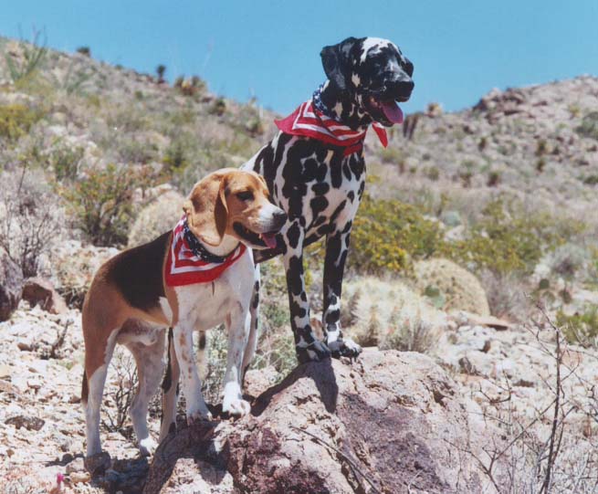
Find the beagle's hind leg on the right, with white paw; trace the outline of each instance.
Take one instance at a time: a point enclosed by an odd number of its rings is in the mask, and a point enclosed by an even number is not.
[[[151,344],[131,342],[127,348],[137,364],[139,385],[133,397],[129,415],[133,423],[137,444],[142,456],[150,456],[158,446],[147,428],[148,407],[152,396],[160,386],[164,372],[164,331],[154,330]]]

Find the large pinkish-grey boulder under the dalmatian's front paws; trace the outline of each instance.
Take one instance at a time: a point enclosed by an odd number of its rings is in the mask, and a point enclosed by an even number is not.
[[[144,492],[494,492],[474,458],[490,434],[476,410],[419,353],[308,363],[258,396],[252,415],[168,436]]]

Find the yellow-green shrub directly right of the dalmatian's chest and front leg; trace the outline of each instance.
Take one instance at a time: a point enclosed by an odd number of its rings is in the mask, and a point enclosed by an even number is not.
[[[351,231],[350,266],[359,271],[404,271],[408,259],[427,258],[444,244],[442,231],[413,205],[365,195]]]

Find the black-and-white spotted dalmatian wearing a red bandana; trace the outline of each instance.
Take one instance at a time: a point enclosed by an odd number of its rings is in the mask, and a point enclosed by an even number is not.
[[[255,260],[282,256],[299,363],[362,352],[343,338],[340,317],[351,225],[365,187],[363,140],[372,127],[386,145],[384,129],[403,122],[397,103],[409,100],[414,89],[413,63],[387,39],[348,37],[323,47],[320,57],[328,79],[289,117],[276,121],[274,139],[242,165],[266,179],[272,201],[288,215],[275,241],[256,251]],[[303,249],[322,237],[320,341],[309,322]],[[257,304],[258,294],[255,298]],[[252,331],[255,342],[257,328]]]

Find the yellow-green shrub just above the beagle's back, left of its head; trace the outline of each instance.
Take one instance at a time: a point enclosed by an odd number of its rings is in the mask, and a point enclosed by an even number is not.
[[[132,220],[132,193],[152,182],[139,168],[109,164],[90,168],[83,180],[60,188],[77,225],[98,246],[126,243]]]

